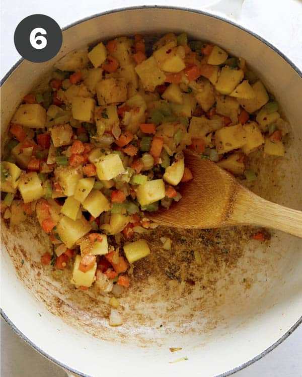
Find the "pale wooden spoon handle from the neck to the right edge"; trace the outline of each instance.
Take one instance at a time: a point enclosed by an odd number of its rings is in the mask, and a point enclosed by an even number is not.
[[[238,193],[229,221],[282,230],[302,238],[302,212],[268,202],[247,190]]]

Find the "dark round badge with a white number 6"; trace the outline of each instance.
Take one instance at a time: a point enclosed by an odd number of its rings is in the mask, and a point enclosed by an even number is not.
[[[17,26],[14,42],[21,56],[34,63],[42,63],[59,52],[62,31],[51,17],[31,15]]]

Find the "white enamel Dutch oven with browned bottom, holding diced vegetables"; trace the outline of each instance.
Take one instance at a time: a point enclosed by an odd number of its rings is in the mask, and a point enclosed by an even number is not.
[[[20,61],[5,77],[2,140],[23,96],[67,52],[119,35],[171,31],[187,32],[244,56],[274,93],[291,125],[287,153],[279,160],[263,160],[253,190],[302,210],[301,72],[250,31],[203,12],[124,9],[67,27],[55,58],[40,64]],[[105,318],[109,309],[100,298],[74,290],[67,275],[41,270],[46,241],[39,227],[27,223],[10,230],[3,224],[2,315],[37,351],[83,376],[231,374],[265,355],[301,323],[302,240],[272,232],[270,242],[261,244],[250,241],[244,227],[220,232],[230,257],[217,262],[202,256],[193,287],[163,278],[160,269],[182,259],[163,259],[154,249],[150,263],[135,267],[137,278],[121,300],[124,325],[112,328]],[[206,232],[192,233],[194,237],[201,244],[207,239]],[[182,350],[172,354],[170,347]],[[185,356],[188,360],[169,363]]]

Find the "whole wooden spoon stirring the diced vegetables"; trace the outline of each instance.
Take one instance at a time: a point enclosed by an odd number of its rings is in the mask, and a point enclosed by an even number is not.
[[[169,210],[150,212],[160,225],[174,228],[220,228],[254,225],[302,238],[302,212],[268,202],[243,187],[214,162],[185,151],[193,180],[182,184],[180,202]]]

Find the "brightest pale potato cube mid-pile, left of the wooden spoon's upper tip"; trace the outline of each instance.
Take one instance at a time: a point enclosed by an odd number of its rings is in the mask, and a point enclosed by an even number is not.
[[[101,157],[100,161],[97,161],[95,165],[100,180],[110,180],[125,171],[120,156],[115,153]]]

